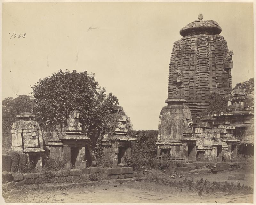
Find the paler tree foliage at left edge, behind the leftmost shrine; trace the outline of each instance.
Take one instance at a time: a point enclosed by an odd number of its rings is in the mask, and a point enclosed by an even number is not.
[[[5,98],[2,100],[2,130],[3,149],[12,145],[12,123],[17,119],[15,116],[21,112],[33,112],[33,102],[28,95],[19,95],[17,98]]]

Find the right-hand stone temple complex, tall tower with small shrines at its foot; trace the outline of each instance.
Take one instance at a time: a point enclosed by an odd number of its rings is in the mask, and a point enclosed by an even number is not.
[[[158,159],[229,161],[237,154],[239,133],[254,122],[254,79],[232,90],[233,51],[220,35],[220,25],[203,17],[199,14],[198,20],[181,28],[183,37],[173,43],[168,105],[159,116]],[[200,116],[215,93],[229,96],[234,111]]]

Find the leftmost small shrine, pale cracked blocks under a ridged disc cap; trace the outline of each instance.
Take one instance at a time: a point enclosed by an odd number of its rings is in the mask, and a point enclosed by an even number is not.
[[[42,156],[44,154],[42,131],[36,116],[29,112],[16,115],[18,121],[12,124],[12,151],[27,154],[28,164],[37,171],[42,170]]]

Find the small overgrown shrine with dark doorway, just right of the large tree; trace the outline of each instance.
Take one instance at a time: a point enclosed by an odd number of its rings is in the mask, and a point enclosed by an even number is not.
[[[102,140],[104,159],[113,167],[124,166],[125,158],[131,156],[131,142],[136,138],[127,136],[129,119],[123,107],[112,106],[111,115],[114,118],[114,132],[105,135]]]

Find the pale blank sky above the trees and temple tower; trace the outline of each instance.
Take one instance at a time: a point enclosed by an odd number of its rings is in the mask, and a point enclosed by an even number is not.
[[[157,130],[173,43],[198,13],[220,24],[234,51],[232,86],[253,77],[252,3],[4,3],[2,99],[28,95],[59,69],[87,70],[134,129]]]

